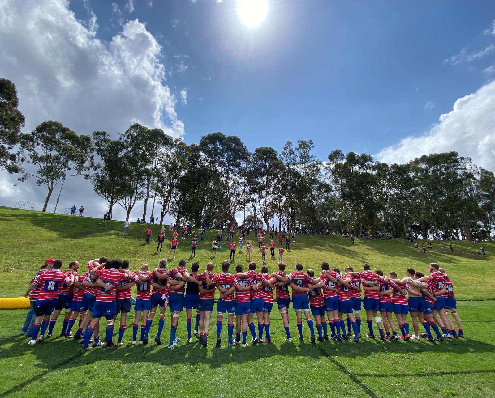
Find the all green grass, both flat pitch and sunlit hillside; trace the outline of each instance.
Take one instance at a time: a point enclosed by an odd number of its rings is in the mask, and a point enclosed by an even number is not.
[[[106,226],[91,218],[42,214],[0,208],[0,283],[1,297],[22,296],[41,264],[48,258],[60,258],[65,264],[77,260],[83,270],[88,260],[105,255],[129,260],[135,270],[146,262],[154,267],[168,250],[156,255],[154,239],[158,226],[153,227],[152,243],[145,245],[145,225],[131,224],[129,235],[122,235],[123,222],[109,221]],[[167,229],[168,234],[168,229]],[[198,245],[196,260],[200,270],[210,261],[213,232]],[[216,233],[215,233],[216,234]],[[237,243],[236,234],[236,243]],[[421,241],[419,242],[421,246]],[[437,244],[435,244],[437,243]],[[226,247],[224,240],[223,247]],[[253,245],[251,259],[261,264],[261,254]],[[341,269],[351,265],[361,269],[364,262],[384,271],[395,270],[399,276],[405,268],[428,272],[428,263],[437,262],[446,269],[458,299],[495,298],[494,244],[484,244],[487,258],[479,258],[480,245],[454,242],[455,255],[446,245],[441,254],[438,242],[434,250],[416,253],[403,239],[392,241],[356,239],[336,236],[300,236],[284,253],[289,270],[296,262],[319,269],[322,261]],[[179,245],[177,265],[181,257],[189,259],[189,245]],[[229,250],[223,248],[214,260],[219,271]],[[247,265],[245,254],[236,254],[236,264]],[[276,261],[267,260],[270,271]],[[486,272],[484,272],[486,271]],[[487,275],[486,279],[482,279]],[[480,282],[481,279],[481,282]],[[480,287],[483,286],[483,287]],[[214,348],[216,313],[212,314],[208,348],[185,339],[174,350],[166,346],[131,346],[134,318],[128,316],[124,347],[106,352],[95,349],[80,354],[76,341],[61,338],[47,340],[30,347],[18,334],[25,310],[0,311],[0,396],[9,397],[130,397],[156,396],[355,396],[355,397],[495,397],[495,301],[458,302],[466,339],[444,341],[434,345],[425,341],[391,343],[361,339],[350,342],[325,341],[284,343],[285,333],[276,308],[271,315],[273,345],[242,349],[226,347],[227,321],[222,330],[222,348]],[[361,311],[364,313],[364,310]],[[297,336],[295,313],[289,311],[291,332]],[[55,326],[58,335],[61,320]],[[156,319],[156,318],[155,318]],[[168,340],[170,315],[167,312],[162,340]],[[177,334],[186,337],[185,313],[179,320]],[[150,336],[156,331],[156,320]],[[303,325],[309,342],[309,330]],[[376,327],[376,326],[375,326]],[[366,322],[361,330],[366,332]],[[420,327],[421,331],[421,327]],[[248,334],[249,336],[249,334]],[[249,337],[250,339],[250,337]],[[297,340],[297,339],[293,339]]]

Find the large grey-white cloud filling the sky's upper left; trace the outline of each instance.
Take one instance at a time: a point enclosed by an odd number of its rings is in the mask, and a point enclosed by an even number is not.
[[[118,13],[118,7],[112,7]],[[161,61],[162,47],[145,24],[128,21],[117,35],[102,41],[96,16],[87,10],[87,21],[80,21],[68,0],[0,1],[0,76],[16,84],[19,109],[26,117],[24,131],[51,119],[79,134],[104,130],[115,136],[138,121],[175,137],[183,135],[176,96],[164,84],[169,71]],[[12,191],[15,178],[0,182],[1,203],[13,206],[13,196],[29,198],[41,209],[46,187],[31,181]],[[76,198],[88,215],[99,212],[102,200],[82,177],[67,179],[57,211],[72,206]],[[52,196],[49,209],[54,201]],[[135,211],[133,218],[142,206]]]

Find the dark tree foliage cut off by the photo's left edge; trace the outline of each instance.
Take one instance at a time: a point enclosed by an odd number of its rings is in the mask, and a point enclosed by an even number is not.
[[[18,154],[12,152],[20,143],[24,116],[17,109],[19,100],[15,85],[7,79],[0,79],[0,169],[18,173]]]

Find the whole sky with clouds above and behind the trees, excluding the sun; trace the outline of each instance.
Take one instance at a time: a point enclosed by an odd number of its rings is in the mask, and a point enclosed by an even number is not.
[[[16,84],[26,132],[139,122],[188,144],[235,134],[250,151],[312,139],[321,160],[456,150],[495,171],[494,1],[268,2],[248,28],[237,0],[4,0],[0,76]],[[0,174],[0,204],[40,209],[46,188],[16,178]],[[82,177],[60,201],[106,207]]]

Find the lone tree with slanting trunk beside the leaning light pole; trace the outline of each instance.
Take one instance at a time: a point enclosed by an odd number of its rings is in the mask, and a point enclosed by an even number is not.
[[[24,171],[19,181],[36,177],[38,185],[47,184],[48,195],[43,212],[55,185],[66,177],[73,177],[90,169],[93,145],[89,135],[77,135],[59,122],[43,122],[30,134],[22,134],[21,160],[37,168]],[[36,173],[36,174],[34,174]]]

